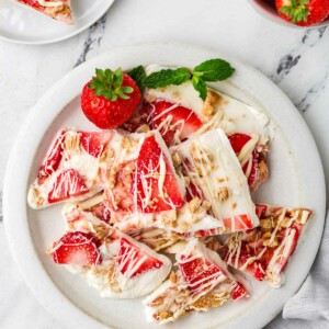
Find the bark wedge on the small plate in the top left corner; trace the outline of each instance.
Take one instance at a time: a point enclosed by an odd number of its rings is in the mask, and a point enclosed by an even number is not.
[[[50,19],[66,24],[72,24],[72,9],[70,0],[14,0],[33,10],[43,13]]]

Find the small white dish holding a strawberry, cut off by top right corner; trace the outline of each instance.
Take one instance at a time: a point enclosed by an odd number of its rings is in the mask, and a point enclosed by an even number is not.
[[[268,19],[276,24],[280,24],[282,26],[288,26],[288,27],[295,27],[295,29],[316,29],[316,27],[329,25],[329,16],[324,22],[320,22],[320,23],[311,25],[311,26],[294,25],[294,24],[286,22],[279,15],[279,13],[275,9],[275,1],[273,1],[273,0],[249,0],[249,2],[259,14],[261,14],[265,19]]]

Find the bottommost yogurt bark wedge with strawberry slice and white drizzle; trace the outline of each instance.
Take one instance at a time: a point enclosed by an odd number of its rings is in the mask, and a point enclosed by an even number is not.
[[[167,324],[192,311],[248,297],[243,284],[228,272],[218,254],[196,238],[175,259],[179,270],[144,300],[149,321]]]

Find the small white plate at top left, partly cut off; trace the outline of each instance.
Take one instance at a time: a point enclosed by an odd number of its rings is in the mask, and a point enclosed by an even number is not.
[[[12,0],[0,1],[0,38],[30,45],[56,43],[88,29],[114,0],[71,0],[73,25],[54,21]]]

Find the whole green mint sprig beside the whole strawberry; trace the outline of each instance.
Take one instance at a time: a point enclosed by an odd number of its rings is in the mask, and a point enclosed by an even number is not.
[[[200,98],[205,101],[207,98],[207,86],[205,82],[226,80],[232,76],[235,69],[224,59],[215,58],[203,61],[192,71],[188,68],[163,69],[146,77],[143,66],[131,70],[128,75],[136,81],[143,91],[146,87],[150,89],[168,86],[179,86],[192,80],[193,88],[198,92]]]

